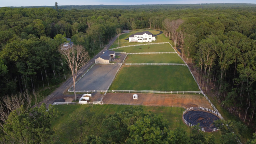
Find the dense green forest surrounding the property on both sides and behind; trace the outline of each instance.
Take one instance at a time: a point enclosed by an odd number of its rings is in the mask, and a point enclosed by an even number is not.
[[[0,95],[32,93],[65,80],[58,52],[71,38],[93,56],[116,29],[163,30],[193,64],[206,94],[256,131],[255,4],[0,8]]]

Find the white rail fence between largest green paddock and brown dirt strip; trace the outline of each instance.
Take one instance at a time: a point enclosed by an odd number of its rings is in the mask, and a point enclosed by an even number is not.
[[[201,91],[163,91],[163,90],[108,90],[112,93],[164,93],[164,94],[201,94]]]

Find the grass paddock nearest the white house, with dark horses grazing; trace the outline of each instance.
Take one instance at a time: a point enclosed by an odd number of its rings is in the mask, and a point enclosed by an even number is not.
[[[131,46],[131,47],[123,47],[123,48],[119,48],[119,49],[114,49],[114,50],[116,52],[126,52],[126,53],[175,52],[169,44]]]

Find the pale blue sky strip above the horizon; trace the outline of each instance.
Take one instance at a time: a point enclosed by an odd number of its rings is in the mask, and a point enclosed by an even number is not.
[[[139,4],[200,4],[200,3],[250,3],[256,0],[1,0],[4,6],[54,6],[58,5],[139,5]]]

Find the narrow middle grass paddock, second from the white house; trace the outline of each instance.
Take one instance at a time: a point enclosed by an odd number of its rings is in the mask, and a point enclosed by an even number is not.
[[[184,64],[177,54],[134,54],[127,55],[125,63],[169,63]]]

